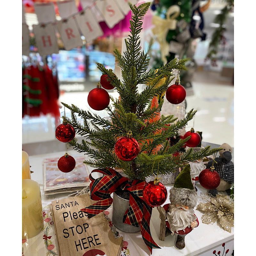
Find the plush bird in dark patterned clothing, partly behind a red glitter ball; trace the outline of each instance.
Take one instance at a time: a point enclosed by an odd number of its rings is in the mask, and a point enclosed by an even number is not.
[[[230,189],[234,185],[234,163],[231,161],[232,159],[232,147],[230,147],[227,143],[223,143],[220,145],[220,148],[223,148],[219,153],[220,156],[216,157],[214,161],[215,171],[220,174],[220,185],[215,188],[209,190],[209,193],[212,196],[216,196],[218,191],[226,191],[228,195],[230,195]],[[207,164],[207,168],[212,166],[212,161]]]

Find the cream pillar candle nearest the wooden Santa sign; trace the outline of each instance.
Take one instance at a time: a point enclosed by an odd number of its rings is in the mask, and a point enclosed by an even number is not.
[[[22,239],[36,236],[43,228],[42,200],[39,184],[22,180]]]

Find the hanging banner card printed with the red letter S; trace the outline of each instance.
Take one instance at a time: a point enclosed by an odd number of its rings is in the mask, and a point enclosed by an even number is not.
[[[120,20],[124,19],[124,14],[114,0],[98,0],[95,4],[104,17],[108,28],[113,28]]]

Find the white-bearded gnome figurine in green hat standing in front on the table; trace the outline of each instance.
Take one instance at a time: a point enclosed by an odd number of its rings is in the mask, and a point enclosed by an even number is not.
[[[185,236],[199,225],[199,221],[194,213],[197,193],[191,181],[189,164],[184,166],[174,181],[173,188],[170,189],[170,202],[171,204],[165,204],[163,207],[158,206],[157,210],[160,212],[162,220],[164,218],[161,215],[163,216],[164,212],[166,212],[165,236],[168,233],[171,233],[171,235],[176,233],[177,240],[175,245],[178,249],[183,249],[185,247]]]

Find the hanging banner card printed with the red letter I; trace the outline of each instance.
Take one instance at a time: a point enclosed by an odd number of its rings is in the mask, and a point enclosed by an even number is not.
[[[85,11],[81,11],[80,13],[74,16],[76,18],[77,24],[85,37],[86,42],[91,42],[93,39],[98,36],[103,35],[103,31],[94,18],[92,14],[92,10],[87,8]]]

